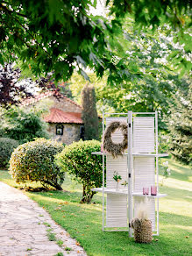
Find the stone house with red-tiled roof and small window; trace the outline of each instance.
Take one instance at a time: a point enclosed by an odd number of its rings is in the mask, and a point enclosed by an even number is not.
[[[43,99],[52,102],[50,112],[46,114],[44,120],[53,139],[67,145],[83,139],[82,107],[67,96],[53,91],[27,99],[23,105],[32,106]]]

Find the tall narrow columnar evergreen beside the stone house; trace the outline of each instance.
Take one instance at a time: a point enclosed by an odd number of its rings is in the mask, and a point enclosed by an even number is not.
[[[98,139],[98,116],[94,87],[85,86],[82,89],[82,120],[85,129],[84,139]]]

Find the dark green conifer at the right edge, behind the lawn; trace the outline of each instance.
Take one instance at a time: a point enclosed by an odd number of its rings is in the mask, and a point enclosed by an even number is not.
[[[174,157],[191,164],[192,160],[192,84],[175,96],[175,105],[168,118],[170,149]]]

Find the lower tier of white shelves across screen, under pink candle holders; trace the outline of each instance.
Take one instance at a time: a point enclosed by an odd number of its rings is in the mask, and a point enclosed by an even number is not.
[[[103,188],[91,188],[91,191],[95,192],[103,192]],[[104,188],[104,193],[105,194],[116,194],[116,195],[128,195],[128,189],[114,189],[114,188]],[[147,197],[152,197],[152,198],[160,198],[160,197],[165,197],[167,194],[158,194],[157,196],[152,196],[152,195],[143,195],[141,193],[132,193],[132,196],[147,196]]]

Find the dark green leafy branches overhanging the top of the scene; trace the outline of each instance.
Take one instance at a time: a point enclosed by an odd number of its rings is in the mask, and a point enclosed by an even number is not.
[[[75,69],[89,79],[87,67],[97,76],[109,70],[113,81],[129,79],[124,72],[129,70],[127,63],[114,61],[124,52],[122,25],[127,14],[139,29],[161,24],[178,29],[177,39],[190,51],[188,0],[106,1],[107,17],[94,16],[91,7],[96,8],[96,0],[1,1],[0,63],[22,60],[22,68],[31,68],[34,75],[52,72],[56,80],[68,81]]]

